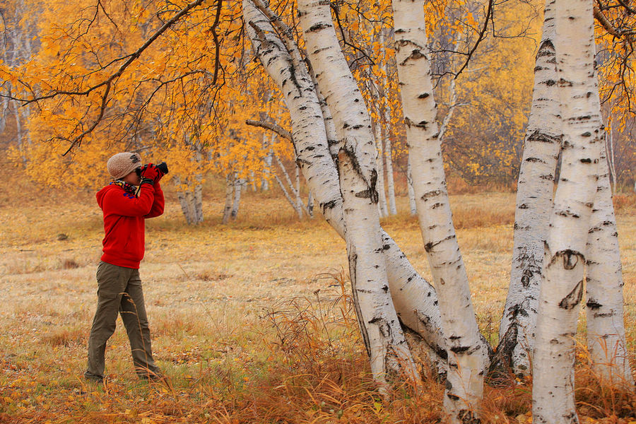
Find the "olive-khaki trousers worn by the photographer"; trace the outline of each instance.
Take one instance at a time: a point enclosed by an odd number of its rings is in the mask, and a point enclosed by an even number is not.
[[[106,341],[115,331],[117,313],[122,315],[128,333],[137,374],[145,378],[160,376],[159,367],[153,360],[139,269],[124,268],[102,261],[98,266],[97,281],[98,307],[88,338],[88,368],[84,373],[85,377],[104,377]]]

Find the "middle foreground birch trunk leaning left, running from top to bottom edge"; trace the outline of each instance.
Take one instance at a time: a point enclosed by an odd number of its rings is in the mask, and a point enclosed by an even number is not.
[[[432,95],[422,2],[394,0],[396,61],[420,229],[449,351],[444,410],[451,423],[477,419],[488,348],[479,334],[448,199]]]

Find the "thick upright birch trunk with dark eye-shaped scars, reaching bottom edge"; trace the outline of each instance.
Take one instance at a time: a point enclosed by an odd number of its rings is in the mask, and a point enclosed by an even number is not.
[[[575,336],[591,210],[599,180],[601,109],[594,74],[591,0],[557,0],[558,90],[563,152],[543,257],[533,358],[535,423],[578,423]]]

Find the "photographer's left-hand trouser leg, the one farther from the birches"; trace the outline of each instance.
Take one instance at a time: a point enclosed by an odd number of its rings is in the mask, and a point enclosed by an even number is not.
[[[127,276],[121,266],[100,262],[97,271],[98,307],[88,338],[87,379],[104,378],[106,341],[117,326],[117,312],[126,287]]]

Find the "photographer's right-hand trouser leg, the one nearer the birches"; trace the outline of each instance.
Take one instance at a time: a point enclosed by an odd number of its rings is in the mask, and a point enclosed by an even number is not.
[[[160,377],[161,371],[153,360],[150,329],[148,329],[146,306],[143,303],[139,270],[131,271],[126,293],[124,293],[119,306],[119,313],[122,314],[122,321],[128,332],[135,371],[144,378]]]

